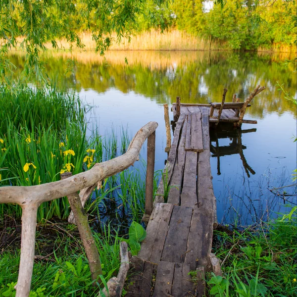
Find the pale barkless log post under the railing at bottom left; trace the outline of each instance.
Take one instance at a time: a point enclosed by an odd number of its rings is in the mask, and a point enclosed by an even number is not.
[[[14,287],[16,297],[28,297],[30,294],[38,206],[39,205],[33,204],[32,202],[22,206],[21,260],[17,284]]]

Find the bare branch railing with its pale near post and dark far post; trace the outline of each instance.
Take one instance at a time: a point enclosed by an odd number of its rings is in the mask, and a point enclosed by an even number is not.
[[[76,194],[82,190],[88,197],[95,186],[101,185],[102,180],[115,175],[139,160],[140,150],[148,139],[148,166],[146,179],[146,215],[150,215],[153,204],[153,172],[155,130],[158,124],[149,122],[142,127],[132,139],[127,152],[114,159],[97,163],[88,171],[73,175],[60,181],[38,186],[7,186],[0,187],[0,203],[16,203],[22,208],[21,257],[16,297],[28,297],[30,294],[32,272],[35,253],[35,235],[37,224],[37,210],[42,202],[51,201]],[[90,191],[90,189],[92,189]],[[89,191],[88,191],[89,190]],[[85,199],[86,200],[86,199]],[[75,218],[75,213],[74,213]]]

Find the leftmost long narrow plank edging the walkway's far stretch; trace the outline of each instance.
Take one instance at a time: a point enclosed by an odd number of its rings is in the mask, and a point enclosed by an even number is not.
[[[156,203],[162,203],[164,202],[164,181],[169,183],[170,178],[173,173],[173,167],[176,159],[176,153],[177,153],[177,147],[180,139],[180,133],[181,129],[184,123],[185,115],[181,114],[179,117],[179,120],[176,124],[175,130],[174,130],[174,137],[171,145],[171,149],[168,155],[167,163],[166,166],[163,170],[163,177],[160,180],[158,190],[154,199],[153,204],[155,205]],[[167,185],[165,185],[167,187]]]

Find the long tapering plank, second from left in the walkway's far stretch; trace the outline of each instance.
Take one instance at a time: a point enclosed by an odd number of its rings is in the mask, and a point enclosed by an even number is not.
[[[167,203],[172,203],[175,205],[180,204],[180,195],[182,191],[182,183],[185,169],[185,160],[186,160],[186,151],[185,151],[185,142],[186,142],[186,132],[187,132],[187,119],[185,119],[182,134],[179,141],[177,158],[173,166],[173,174],[169,182],[169,191]]]

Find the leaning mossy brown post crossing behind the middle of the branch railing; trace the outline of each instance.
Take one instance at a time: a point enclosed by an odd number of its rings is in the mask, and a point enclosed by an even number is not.
[[[70,176],[72,176],[71,172],[64,172],[61,174],[61,179],[63,180]],[[68,195],[67,198],[71,210],[73,211],[75,222],[86,250],[92,280],[96,281],[98,280],[99,275],[102,275],[102,268],[99,252],[95,244],[90,225],[88,223],[88,216],[83,208],[82,202],[77,192]],[[93,286],[97,286],[96,282],[93,283]]]

